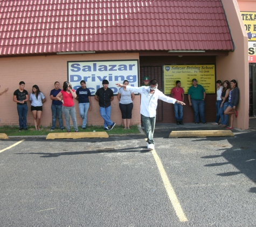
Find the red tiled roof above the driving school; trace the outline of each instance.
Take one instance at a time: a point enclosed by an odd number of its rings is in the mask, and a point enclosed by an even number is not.
[[[221,0],[0,0],[0,55],[232,51]]]

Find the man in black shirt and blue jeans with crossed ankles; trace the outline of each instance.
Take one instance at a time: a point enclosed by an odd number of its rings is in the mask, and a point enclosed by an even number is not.
[[[99,102],[100,105],[100,115],[104,119],[104,129],[112,130],[115,123],[110,119],[111,115],[111,101],[114,100],[113,90],[108,88],[108,81],[102,81],[102,88],[99,88],[95,93],[95,100]],[[108,127],[109,126],[109,127]]]

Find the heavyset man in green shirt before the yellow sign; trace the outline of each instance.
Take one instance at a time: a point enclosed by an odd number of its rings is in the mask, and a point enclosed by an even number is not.
[[[192,86],[188,91],[189,105],[192,105],[195,114],[195,123],[199,123],[199,115],[203,124],[206,124],[204,108],[205,108],[205,89],[202,85],[197,84],[197,80],[192,80]]]

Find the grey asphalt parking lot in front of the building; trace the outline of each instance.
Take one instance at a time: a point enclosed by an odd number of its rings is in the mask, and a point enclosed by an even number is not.
[[[1,226],[254,226],[256,131],[169,133],[0,140]]]

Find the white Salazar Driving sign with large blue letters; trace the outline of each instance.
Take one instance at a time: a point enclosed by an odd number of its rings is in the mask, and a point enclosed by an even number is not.
[[[124,80],[128,80],[130,86],[139,87],[139,60],[68,61],[67,80],[74,90],[81,87],[80,81],[84,80],[92,95],[103,87],[103,80],[108,80],[108,87],[117,95],[120,88],[115,84]]]

